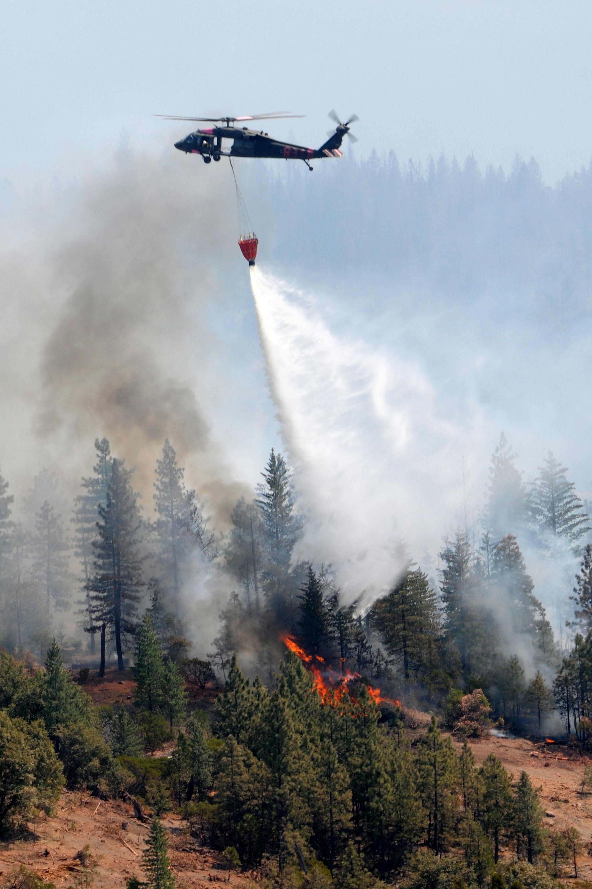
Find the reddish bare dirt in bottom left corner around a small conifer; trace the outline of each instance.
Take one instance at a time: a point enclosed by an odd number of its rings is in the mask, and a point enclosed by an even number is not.
[[[188,889],[225,882],[228,871],[220,856],[196,845],[185,830],[185,822],[172,815],[162,819],[169,831],[171,866],[178,883]],[[96,889],[122,889],[129,877],[145,879],[141,853],[148,833],[136,821],[130,804],[120,800],[101,801],[88,793],[64,792],[57,813],[30,825],[32,835],[0,844],[0,879],[24,864],[38,877],[56,887],[74,886],[82,874],[76,853],[89,845],[96,862],[92,874]],[[91,863],[92,863],[91,859]],[[232,873],[230,885],[247,889],[253,875]]]

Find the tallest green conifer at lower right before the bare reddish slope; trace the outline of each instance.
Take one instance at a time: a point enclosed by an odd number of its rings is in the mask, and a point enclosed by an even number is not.
[[[450,738],[443,738],[431,717],[425,738],[418,747],[419,789],[430,816],[428,843],[434,852],[446,850],[457,820],[458,763]]]

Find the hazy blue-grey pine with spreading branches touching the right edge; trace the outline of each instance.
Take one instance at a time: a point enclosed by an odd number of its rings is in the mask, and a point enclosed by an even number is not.
[[[564,537],[575,543],[592,530],[582,502],[573,493],[575,485],[565,478],[567,469],[561,466],[549,451],[539,477],[533,483],[531,511],[542,533]]]

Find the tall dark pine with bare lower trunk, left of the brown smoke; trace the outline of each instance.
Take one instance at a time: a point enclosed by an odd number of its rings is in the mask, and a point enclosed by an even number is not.
[[[130,476],[131,470],[114,459],[107,502],[99,506],[99,539],[93,543],[93,616],[111,630],[118,669],[123,669],[126,639],[136,629],[136,603],[145,585],[140,555],[142,522]]]

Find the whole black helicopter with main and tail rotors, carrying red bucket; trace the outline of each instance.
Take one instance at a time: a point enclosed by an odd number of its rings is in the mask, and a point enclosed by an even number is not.
[[[347,136],[352,142],[357,142],[356,137],[350,132],[350,126],[359,120],[357,115],[352,115],[343,124],[335,110],[329,112],[329,117],[336,124],[335,132],[330,130],[330,137],[320,148],[304,148],[302,145],[293,145],[291,142],[282,142],[273,139],[263,130],[249,130],[249,127],[237,127],[248,120],[280,120],[284,117],[303,117],[304,115],[288,114],[286,111],[269,111],[266,114],[244,115],[241,117],[179,117],[171,115],[155,115],[164,120],[185,120],[198,123],[217,124],[209,129],[190,132],[185,139],[175,142],[175,148],[185,151],[185,154],[201,155],[204,164],[212,160],[219,161],[221,157],[285,157],[286,160],[302,160],[312,171],[311,161],[314,158],[342,157],[339,150],[343,136]],[[232,140],[230,148],[223,147],[223,140]]]

